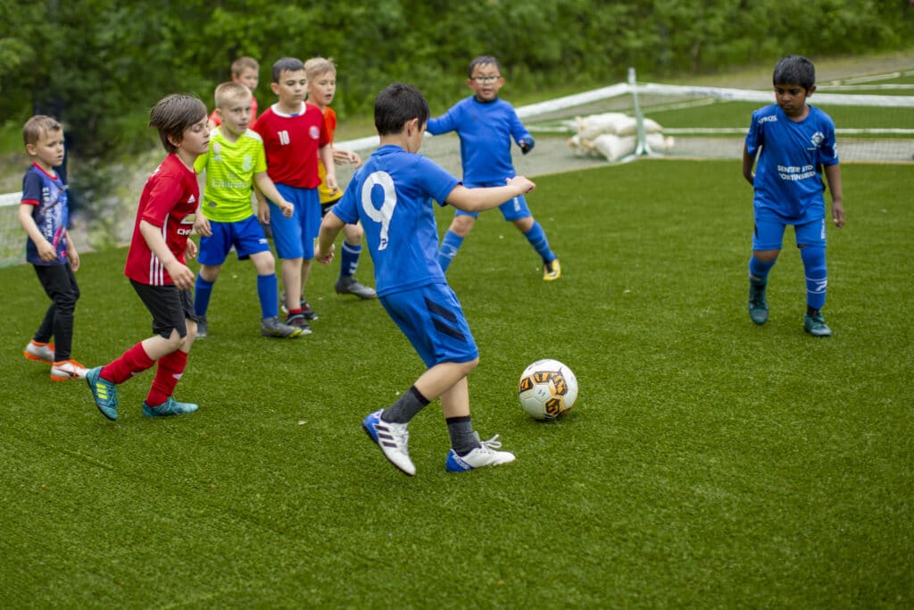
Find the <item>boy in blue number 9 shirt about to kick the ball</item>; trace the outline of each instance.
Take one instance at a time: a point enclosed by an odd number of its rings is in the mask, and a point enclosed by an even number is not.
[[[314,253],[319,262],[330,262],[336,235],[345,224],[361,220],[375,263],[377,297],[428,367],[398,401],[370,413],[362,423],[388,461],[409,476],[416,474],[416,467],[409,459],[407,424],[439,397],[451,435],[445,461],[449,471],[515,459],[496,451],[501,447],[497,434],[481,441],[473,430],[466,377],[479,363],[479,351],[438,263],[431,202],[478,212],[535,187],[525,177],[508,178],[499,187],[463,187],[441,166],[417,154],[428,119],[428,102],[415,87],[394,83],[378,94],[375,126],[380,146],[324,217]]]

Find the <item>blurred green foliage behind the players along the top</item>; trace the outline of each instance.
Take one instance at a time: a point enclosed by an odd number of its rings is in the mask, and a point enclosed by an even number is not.
[[[70,150],[146,147],[148,109],[167,93],[209,102],[240,55],[261,62],[261,107],[282,56],[330,56],[335,110],[370,113],[377,90],[415,84],[433,108],[463,94],[473,56],[502,60],[514,91],[580,88],[639,74],[703,73],[777,59],[898,48],[914,37],[909,0],[0,0],[0,116],[62,115]],[[369,123],[370,124],[370,123]],[[130,134],[125,135],[125,134]],[[143,138],[144,134],[148,140]]]

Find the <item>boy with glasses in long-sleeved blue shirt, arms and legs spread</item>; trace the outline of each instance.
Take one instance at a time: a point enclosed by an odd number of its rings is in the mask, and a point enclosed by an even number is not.
[[[473,95],[457,102],[443,116],[431,119],[427,127],[430,134],[457,132],[460,136],[460,154],[463,166],[463,184],[466,187],[494,187],[505,183],[505,178],[515,176],[511,162],[511,140],[526,155],[535,144],[526,131],[514,108],[498,97],[505,84],[498,59],[484,55],[470,62],[466,84]],[[549,248],[549,241],[542,226],[533,218],[523,195],[500,206],[505,220],[514,223],[524,234],[533,249],[543,259],[543,279],[558,280],[561,266],[558,257]],[[451,265],[463,240],[473,230],[478,212],[457,209],[451,227],[441,240],[438,262],[445,271]]]

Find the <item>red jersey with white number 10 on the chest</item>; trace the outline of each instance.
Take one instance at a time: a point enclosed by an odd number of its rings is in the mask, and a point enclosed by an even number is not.
[[[286,114],[273,104],[260,115],[253,129],[263,138],[267,175],[273,182],[297,188],[320,186],[317,149],[330,144],[320,108],[302,102],[302,112]]]

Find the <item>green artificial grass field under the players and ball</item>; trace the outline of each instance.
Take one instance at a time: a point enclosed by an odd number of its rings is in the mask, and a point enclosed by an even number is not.
[[[449,279],[482,354],[475,427],[517,460],[465,475],[437,403],[410,426],[414,478],[361,431],[422,365],[377,302],[333,294],[336,263],[309,284],[314,335],[286,342],[259,336],[253,269],[229,263],[176,394],[200,411],[143,419],[146,372],[117,423],[22,358],[46,303],[31,268],[0,270],[0,605],[911,607],[914,175],[843,172],[829,339],[802,332],[790,245],[771,321],[749,321],[738,163],[541,178],[555,283],[484,215]],[[124,255],[83,257],[84,364],[150,334]],[[515,398],[539,358],[579,379],[557,423]]]

